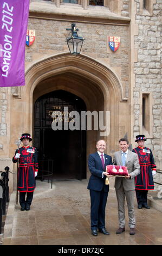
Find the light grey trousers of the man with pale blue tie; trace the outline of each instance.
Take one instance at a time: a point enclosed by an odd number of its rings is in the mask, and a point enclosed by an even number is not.
[[[116,190],[116,197],[118,200],[118,218],[120,228],[125,227],[125,197],[128,207],[128,217],[129,217],[129,228],[135,227],[135,214],[134,214],[134,190],[125,191],[124,187]]]

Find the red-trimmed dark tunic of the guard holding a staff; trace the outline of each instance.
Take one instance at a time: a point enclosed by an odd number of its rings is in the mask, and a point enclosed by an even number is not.
[[[23,146],[16,150],[20,154],[18,168],[17,188],[20,192],[33,192],[35,190],[35,172],[38,171],[37,150],[34,147]],[[12,161],[17,162],[15,156]]]

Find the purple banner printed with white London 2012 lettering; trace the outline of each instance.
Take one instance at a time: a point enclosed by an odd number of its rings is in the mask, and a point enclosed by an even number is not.
[[[24,59],[29,2],[0,1],[0,87],[25,86]]]

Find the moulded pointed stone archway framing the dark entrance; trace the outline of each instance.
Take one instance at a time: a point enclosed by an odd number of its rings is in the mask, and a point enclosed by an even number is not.
[[[123,108],[123,102],[127,99],[118,76],[110,68],[84,55],[59,54],[31,65],[26,72],[25,81],[26,86],[18,88],[20,99],[14,99],[22,102],[19,111],[25,113],[22,114],[18,129],[20,133],[28,131],[33,134],[35,100],[53,90],[63,89],[81,97],[86,103],[87,111],[110,111],[111,133],[104,139],[108,144],[107,152],[111,154],[116,150],[120,136],[120,104],[122,103]],[[47,81],[48,86],[44,86]],[[124,108],[127,108],[127,104]],[[129,130],[128,123],[125,124],[124,121],[122,125],[127,126],[126,131]],[[99,132],[87,132],[87,155],[95,151],[95,142],[99,138]]]

